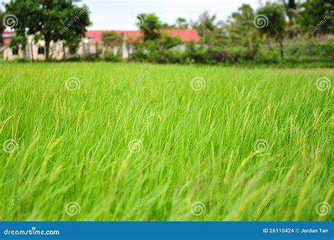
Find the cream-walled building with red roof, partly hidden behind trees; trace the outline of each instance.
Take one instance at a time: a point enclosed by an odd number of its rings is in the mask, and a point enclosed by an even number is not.
[[[120,52],[123,55],[123,58],[128,58],[133,51],[133,43],[137,42],[142,36],[142,32],[139,30],[133,31],[123,31],[123,30],[91,30],[86,32],[86,37],[82,39],[82,42],[79,45],[77,54],[79,56],[87,55],[104,55],[106,48],[103,45],[102,34],[105,32],[117,32],[121,37],[123,37],[122,49],[119,49],[120,46],[113,46],[113,52],[121,50]],[[176,46],[177,49],[185,49],[185,42],[199,42],[199,34],[197,30],[161,30],[161,32],[171,35],[171,37],[180,37],[181,44]],[[0,54],[4,60],[13,60],[16,58],[26,58],[30,60],[44,60],[45,59],[45,44],[44,41],[34,42],[34,37],[32,35],[28,36],[27,46],[25,50],[21,49],[11,49],[9,43],[11,42],[11,36],[15,32],[5,31],[3,34],[4,37],[4,46],[0,47]],[[68,49],[64,48],[63,42],[51,42],[50,44],[50,58],[61,60],[64,57],[68,57]]]

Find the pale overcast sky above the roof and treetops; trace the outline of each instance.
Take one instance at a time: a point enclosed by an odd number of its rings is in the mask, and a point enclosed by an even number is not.
[[[1,1],[1,0],[0,0]],[[9,0],[2,0],[8,2]],[[263,0],[264,1],[264,0]],[[156,13],[163,23],[175,23],[178,17],[196,20],[204,11],[227,20],[242,4],[256,9],[261,0],[83,0],[89,7],[89,30],[136,30],[136,15]]]

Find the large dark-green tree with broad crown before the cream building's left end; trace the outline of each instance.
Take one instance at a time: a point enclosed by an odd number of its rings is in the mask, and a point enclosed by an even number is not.
[[[35,42],[44,40],[47,60],[51,42],[81,39],[90,24],[87,6],[76,6],[72,0],[11,0],[6,13],[18,18],[16,35],[34,34]]]

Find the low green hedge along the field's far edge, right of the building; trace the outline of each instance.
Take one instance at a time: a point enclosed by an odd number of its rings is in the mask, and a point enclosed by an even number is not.
[[[284,61],[290,63],[307,63],[312,61],[331,61],[334,58],[334,44],[327,39],[285,39]],[[333,40],[332,40],[333,41]],[[186,43],[185,51],[178,48],[159,48],[159,44],[147,41],[136,46],[135,53],[130,57],[133,61],[151,63],[205,63],[205,64],[277,64],[281,63],[280,45],[278,43],[259,42],[254,51],[242,45],[207,45]],[[326,54],[324,54],[326,53]]]

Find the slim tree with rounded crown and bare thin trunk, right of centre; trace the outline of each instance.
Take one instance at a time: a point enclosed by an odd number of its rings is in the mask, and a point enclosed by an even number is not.
[[[282,6],[278,4],[269,4],[259,8],[256,17],[261,17],[266,25],[259,28],[260,32],[268,34],[268,37],[278,39],[280,44],[280,57],[283,59],[283,39],[285,36],[285,17]],[[255,17],[255,19],[256,19]]]

